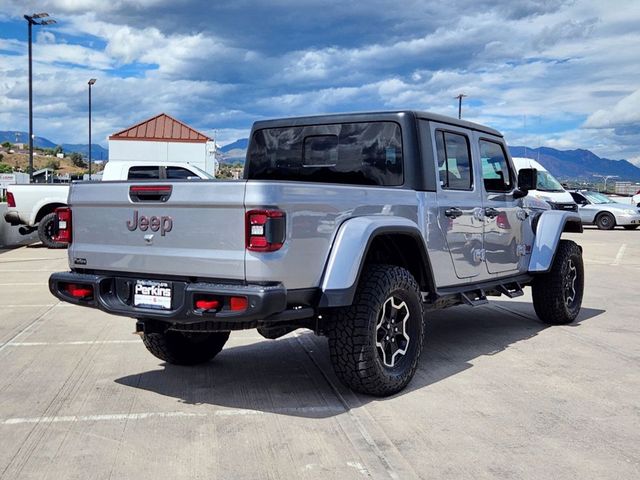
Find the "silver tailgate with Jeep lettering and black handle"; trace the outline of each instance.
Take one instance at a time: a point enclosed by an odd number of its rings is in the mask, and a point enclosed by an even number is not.
[[[135,186],[171,193],[136,198]],[[244,192],[244,181],[73,184],[71,267],[244,280]]]

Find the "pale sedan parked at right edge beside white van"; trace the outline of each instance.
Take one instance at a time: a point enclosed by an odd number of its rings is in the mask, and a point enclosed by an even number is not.
[[[595,225],[600,230],[611,230],[618,225],[626,230],[640,227],[640,209],[636,206],[614,202],[606,195],[590,190],[570,193],[578,204],[583,224]]]

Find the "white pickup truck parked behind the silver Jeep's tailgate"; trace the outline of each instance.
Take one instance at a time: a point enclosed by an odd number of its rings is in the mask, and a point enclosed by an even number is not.
[[[134,161],[108,162],[102,172],[102,181],[114,180],[180,180],[214,177],[188,163],[163,163]],[[20,233],[28,235],[37,230],[40,241],[48,248],[66,245],[53,240],[55,210],[67,205],[69,184],[11,185],[7,189],[9,209],[4,219],[13,226],[21,225]]]

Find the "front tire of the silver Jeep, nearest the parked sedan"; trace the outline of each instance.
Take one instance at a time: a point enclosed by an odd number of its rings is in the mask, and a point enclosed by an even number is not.
[[[572,268],[575,269],[573,278]],[[549,272],[533,282],[533,307],[542,322],[566,325],[580,313],[584,293],[582,251],[571,240],[560,240]]]

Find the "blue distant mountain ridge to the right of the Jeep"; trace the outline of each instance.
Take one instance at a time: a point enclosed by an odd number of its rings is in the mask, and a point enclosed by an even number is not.
[[[559,179],[594,180],[594,175],[617,175],[616,180],[640,181],[640,168],[627,160],[601,158],[589,150],[556,150],[540,147],[509,147],[514,157],[539,161]]]

